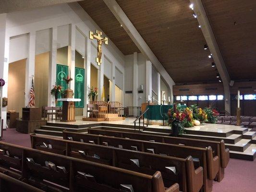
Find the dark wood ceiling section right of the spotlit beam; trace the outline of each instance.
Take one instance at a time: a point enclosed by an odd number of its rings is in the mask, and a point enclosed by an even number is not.
[[[231,79],[256,79],[256,0],[202,0]]]

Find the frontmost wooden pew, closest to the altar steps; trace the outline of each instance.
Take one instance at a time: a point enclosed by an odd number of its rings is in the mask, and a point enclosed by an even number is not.
[[[103,129],[88,129],[88,133],[96,134],[96,135],[107,135],[121,138],[130,138],[136,140],[144,140],[144,141],[155,141],[159,143],[167,143],[167,144],[183,144],[186,146],[194,146],[206,148],[208,146],[212,147],[212,150],[219,156],[219,172],[217,174],[217,180],[220,182],[224,178],[224,169],[227,167],[230,159],[229,149],[225,149],[225,143],[223,140],[220,142],[215,141],[207,141],[207,140],[198,140],[198,139],[189,139],[182,137],[170,137],[170,136],[160,136],[153,134],[141,134],[141,133],[133,133],[133,132],[122,132],[122,131],[110,131]]]

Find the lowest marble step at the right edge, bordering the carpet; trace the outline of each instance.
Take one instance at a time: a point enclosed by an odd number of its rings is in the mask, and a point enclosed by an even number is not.
[[[256,158],[256,144],[250,144],[244,152],[230,151],[230,157],[235,159],[254,161]]]

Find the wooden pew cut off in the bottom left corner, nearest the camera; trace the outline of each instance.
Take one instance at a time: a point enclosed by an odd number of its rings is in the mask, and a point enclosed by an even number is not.
[[[20,180],[0,173],[0,192],[44,192]]]

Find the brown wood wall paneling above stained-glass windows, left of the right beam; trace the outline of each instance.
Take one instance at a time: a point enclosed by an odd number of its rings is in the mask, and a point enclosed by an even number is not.
[[[187,84],[174,85],[174,96],[224,95],[223,84]]]

